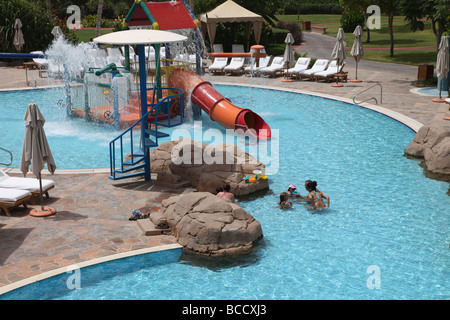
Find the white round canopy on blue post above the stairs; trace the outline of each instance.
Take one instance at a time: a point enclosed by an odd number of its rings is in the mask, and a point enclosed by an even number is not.
[[[95,42],[111,45],[155,44],[185,41],[187,37],[162,30],[125,30],[111,32],[94,39]]]

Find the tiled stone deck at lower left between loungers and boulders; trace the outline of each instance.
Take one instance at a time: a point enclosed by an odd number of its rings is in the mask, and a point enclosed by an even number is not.
[[[57,214],[32,217],[28,212],[35,206],[29,206],[0,216],[0,287],[86,260],[176,243],[170,235],[144,236],[128,220],[133,209],[158,210],[170,191],[143,180],[111,181],[105,173],[43,178],[56,182],[44,203]]]

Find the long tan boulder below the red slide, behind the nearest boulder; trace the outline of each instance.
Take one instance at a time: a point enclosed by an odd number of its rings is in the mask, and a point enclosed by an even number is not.
[[[229,184],[235,196],[269,188],[268,180],[246,183],[254,170],[264,173],[265,165],[234,144],[215,147],[192,139],[161,144],[150,152],[152,172],[166,172],[189,181],[198,191],[215,193],[217,187]]]

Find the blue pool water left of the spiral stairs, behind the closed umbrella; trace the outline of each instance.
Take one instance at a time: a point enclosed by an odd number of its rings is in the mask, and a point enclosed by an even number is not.
[[[0,92],[0,147],[13,154],[12,168],[20,166],[25,134],[23,120],[27,106],[35,102],[45,118],[44,130],[57,169],[106,168],[109,142],[120,134],[111,126],[67,117],[58,101],[65,101],[63,89],[38,89]],[[0,154],[5,157],[6,154]],[[0,162],[6,162],[0,158]]]

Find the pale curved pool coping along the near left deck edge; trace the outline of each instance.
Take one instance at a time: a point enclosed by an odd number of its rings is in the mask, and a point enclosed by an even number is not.
[[[97,265],[97,264],[104,263],[104,262],[125,259],[125,258],[129,258],[129,257],[153,253],[153,252],[175,250],[175,249],[182,249],[182,248],[183,248],[183,246],[181,246],[180,244],[174,243],[174,244],[167,244],[167,245],[161,245],[161,246],[156,246],[156,247],[149,247],[149,248],[144,248],[144,249],[126,251],[126,252],[116,253],[113,255],[104,256],[101,258],[83,261],[83,262],[73,264],[70,266],[65,266],[65,267],[57,268],[57,269],[50,270],[47,272],[43,272],[43,273],[37,274],[35,276],[13,282],[11,284],[7,284],[3,287],[0,287],[0,296],[5,293],[8,293],[10,291],[27,286],[29,284],[32,284],[32,283],[35,283],[38,281],[42,281],[42,280],[45,280],[45,279],[48,279],[48,278],[51,278],[54,276],[58,276],[63,273],[71,272],[74,269],[82,269],[82,268],[90,267],[90,266]]]

